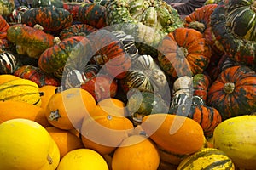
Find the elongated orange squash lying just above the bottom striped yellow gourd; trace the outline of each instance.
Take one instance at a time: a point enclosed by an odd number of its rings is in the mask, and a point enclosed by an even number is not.
[[[143,117],[145,133],[163,150],[188,155],[205,144],[203,129],[198,122],[185,116],[159,113]]]

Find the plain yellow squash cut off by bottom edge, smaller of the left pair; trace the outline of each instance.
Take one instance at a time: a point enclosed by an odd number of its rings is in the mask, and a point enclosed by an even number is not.
[[[108,170],[107,161],[95,150],[77,149],[69,151],[57,170]]]

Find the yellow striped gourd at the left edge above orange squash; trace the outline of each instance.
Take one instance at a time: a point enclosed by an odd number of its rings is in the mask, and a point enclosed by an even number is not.
[[[32,105],[41,105],[38,84],[26,79],[16,79],[0,85],[0,100],[23,101]]]

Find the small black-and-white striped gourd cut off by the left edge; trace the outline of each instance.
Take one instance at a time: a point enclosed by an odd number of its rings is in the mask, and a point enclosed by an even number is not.
[[[0,54],[0,74],[13,74],[20,66],[20,60],[9,52]]]

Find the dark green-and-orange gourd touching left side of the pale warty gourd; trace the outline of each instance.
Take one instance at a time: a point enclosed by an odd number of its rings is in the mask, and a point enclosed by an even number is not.
[[[100,29],[106,24],[106,7],[100,3],[82,3],[78,10],[78,20]]]

